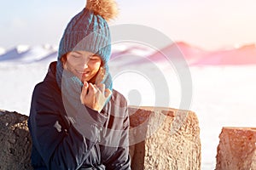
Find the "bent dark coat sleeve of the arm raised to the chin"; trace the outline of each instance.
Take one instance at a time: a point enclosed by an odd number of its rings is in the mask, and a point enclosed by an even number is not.
[[[73,124],[67,126],[60,111],[49,89],[37,85],[32,95],[29,117],[32,142],[48,169],[78,169],[96,144],[105,117],[89,109],[89,113],[99,116],[96,118],[101,122],[95,120],[81,124],[78,116],[74,118]],[[87,127],[90,139],[86,139],[81,133],[82,127]]]

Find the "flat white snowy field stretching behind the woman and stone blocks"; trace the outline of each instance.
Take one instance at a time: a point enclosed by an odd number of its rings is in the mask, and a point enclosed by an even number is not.
[[[133,65],[129,70],[113,60],[113,88],[125,95],[130,105],[156,105],[151,77],[159,72],[150,65]],[[43,81],[49,62],[15,64],[0,62],[0,109],[17,111],[28,116],[32,90]],[[158,65],[166,78],[170,103],[157,105],[179,107],[182,89],[177,73],[169,65]],[[140,70],[140,69],[142,70]],[[143,72],[145,71],[145,72]],[[202,169],[214,169],[218,135],[222,127],[255,127],[256,119],[256,65],[245,66],[192,66],[192,102],[189,110],[195,111],[201,127]],[[144,74],[145,73],[145,74]],[[156,105],[156,106],[157,106]]]

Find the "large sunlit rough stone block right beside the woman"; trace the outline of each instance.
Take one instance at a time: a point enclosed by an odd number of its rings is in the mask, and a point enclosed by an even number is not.
[[[130,107],[129,112],[132,169],[201,169],[200,128],[194,112],[154,107]]]

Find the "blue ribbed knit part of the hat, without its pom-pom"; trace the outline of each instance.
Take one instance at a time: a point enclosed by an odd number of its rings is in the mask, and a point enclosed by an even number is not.
[[[61,38],[58,59],[71,51],[90,51],[107,63],[111,53],[108,23],[99,14],[84,8],[67,25]]]

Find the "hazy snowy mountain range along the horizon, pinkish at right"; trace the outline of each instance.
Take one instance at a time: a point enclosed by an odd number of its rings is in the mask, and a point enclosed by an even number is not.
[[[49,63],[57,58],[57,48],[50,45],[38,45],[32,47],[19,45],[9,50],[5,50],[4,48],[0,49],[0,63]],[[154,62],[165,62],[166,58],[183,58],[190,66],[256,65],[255,44],[247,44],[240,48],[224,48],[215,51],[207,51],[186,42],[174,42],[165,48],[154,50],[153,52],[148,50],[148,48],[128,45],[121,49],[114,48],[111,59],[117,59],[120,55],[123,56],[125,54],[144,55],[143,57]],[[133,60],[132,63],[143,64],[143,59]]]

